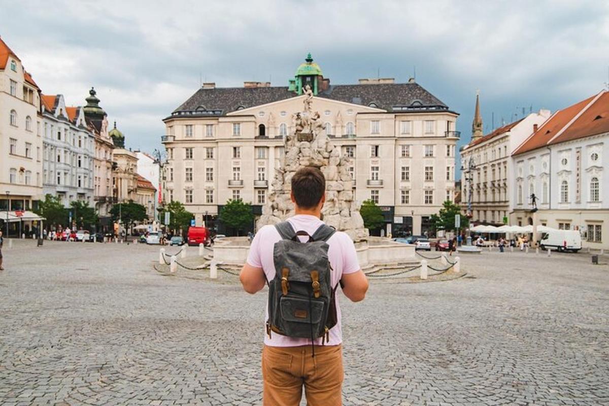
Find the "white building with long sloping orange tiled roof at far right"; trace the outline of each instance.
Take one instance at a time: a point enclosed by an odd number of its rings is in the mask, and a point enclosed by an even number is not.
[[[516,149],[512,222],[579,230],[584,247],[606,250],[607,159],[609,92],[602,91],[552,114]]]

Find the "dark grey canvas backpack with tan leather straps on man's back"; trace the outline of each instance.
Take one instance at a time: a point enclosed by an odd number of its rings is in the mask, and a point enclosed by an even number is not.
[[[289,222],[275,225],[281,240],[273,248],[275,278],[269,281],[269,320],[271,332],[288,337],[323,337],[329,340],[329,330],[336,325],[337,286],[331,285],[328,261],[328,239],[336,231],[325,224],[312,236],[295,232]],[[301,242],[298,236],[308,236]]]

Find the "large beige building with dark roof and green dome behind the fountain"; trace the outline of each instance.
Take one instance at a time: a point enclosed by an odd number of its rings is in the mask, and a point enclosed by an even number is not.
[[[429,216],[454,197],[458,114],[412,79],[331,85],[311,55],[288,86],[204,83],[166,117],[164,201],[184,203],[198,225],[229,199],[252,203],[259,215],[305,85],[326,134],[354,158],[357,201],[384,211],[382,233],[429,231]]]

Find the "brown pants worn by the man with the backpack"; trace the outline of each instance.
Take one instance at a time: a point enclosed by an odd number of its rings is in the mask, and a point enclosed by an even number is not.
[[[309,406],[342,405],[342,346],[270,347],[262,350],[263,404],[298,406],[303,384]]]

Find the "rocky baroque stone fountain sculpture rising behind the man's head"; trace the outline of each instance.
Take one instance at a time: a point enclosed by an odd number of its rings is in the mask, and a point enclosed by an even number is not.
[[[272,191],[258,228],[273,225],[294,215],[294,204],[290,199],[291,180],[294,173],[303,166],[319,168],[326,178],[326,203],[322,208],[323,221],[339,231],[347,233],[354,242],[367,239],[368,230],[359,214],[353,193],[353,179],[348,167],[351,158],[341,155],[340,146],[333,145],[323,131],[320,114],[312,111],[313,94],[307,85],[305,110],[294,118],[294,133],[285,139],[286,153],[280,159],[280,167],[275,170]]]

